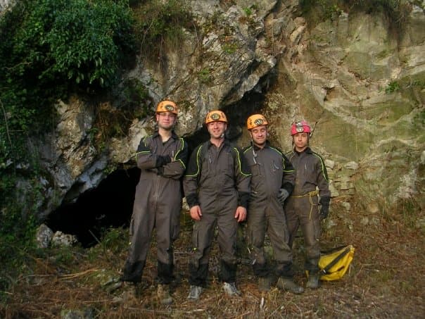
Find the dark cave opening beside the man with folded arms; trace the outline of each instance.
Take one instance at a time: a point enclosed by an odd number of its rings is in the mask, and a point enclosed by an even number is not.
[[[115,170],[75,203],[53,211],[46,225],[53,232],[75,234],[84,248],[94,246],[108,228],[129,226],[139,177],[139,168]]]

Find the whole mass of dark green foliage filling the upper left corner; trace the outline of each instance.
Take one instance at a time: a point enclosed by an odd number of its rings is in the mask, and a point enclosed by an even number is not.
[[[43,129],[53,102],[70,89],[111,87],[133,43],[125,1],[18,1],[0,21],[0,100],[9,129]]]

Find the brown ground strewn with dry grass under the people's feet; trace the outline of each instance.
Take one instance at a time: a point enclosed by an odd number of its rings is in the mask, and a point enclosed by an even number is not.
[[[402,214],[334,213],[328,220],[322,247],[353,244],[353,263],[341,280],[322,282],[304,294],[277,288],[260,292],[250,266],[241,264],[236,284],[243,295],[227,297],[217,282],[220,253],[215,244],[208,288],[199,301],[187,300],[191,221],[184,216],[175,243],[171,306],[156,298],[154,244],[143,282],[119,282],[127,230],[115,229],[91,249],[45,249],[29,256],[25,275],[5,292],[0,318],[425,318],[424,230]],[[239,246],[243,241],[241,235]],[[297,239],[295,280],[305,285],[302,250],[302,239]]]

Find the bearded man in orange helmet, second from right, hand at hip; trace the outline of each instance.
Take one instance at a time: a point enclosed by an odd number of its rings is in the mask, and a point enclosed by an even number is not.
[[[267,140],[268,125],[262,114],[250,115],[246,121],[251,137],[251,145],[243,151],[252,173],[248,207],[250,258],[260,290],[268,291],[274,277],[277,277],[277,287],[300,294],[304,289],[293,282],[292,250],[288,246],[289,236],[283,208],[295,184],[295,170],[288,158]],[[276,261],[273,272],[265,257],[266,233],[272,243]]]

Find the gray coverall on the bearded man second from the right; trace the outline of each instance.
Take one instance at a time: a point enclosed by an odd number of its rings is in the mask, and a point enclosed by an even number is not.
[[[279,203],[279,189],[291,194],[295,184],[295,170],[288,158],[266,142],[260,149],[248,146],[243,151],[250,165],[251,192],[248,209],[248,245],[250,247],[253,270],[258,277],[267,277],[264,252],[265,234],[269,235],[277,262],[274,269],[277,277],[292,277],[292,249],[288,246],[288,229],[284,208]]]

